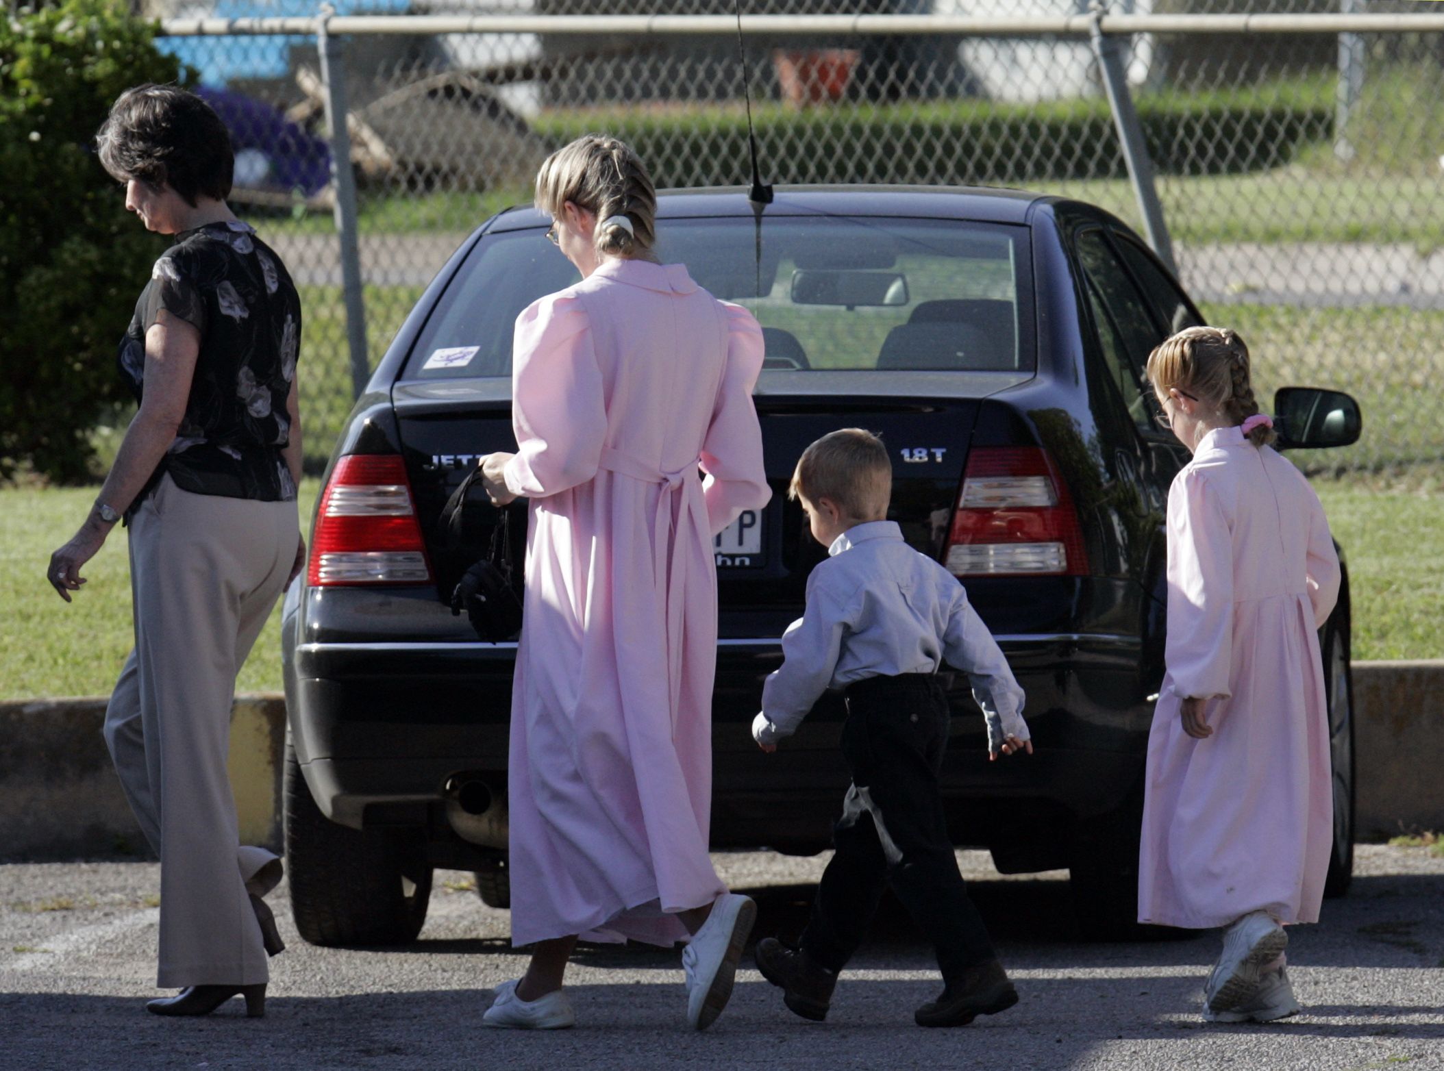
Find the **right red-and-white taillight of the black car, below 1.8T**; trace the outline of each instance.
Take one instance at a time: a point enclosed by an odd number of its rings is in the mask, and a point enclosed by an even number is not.
[[[1037,446],[978,446],[947,541],[953,576],[1086,576],[1067,484]]]

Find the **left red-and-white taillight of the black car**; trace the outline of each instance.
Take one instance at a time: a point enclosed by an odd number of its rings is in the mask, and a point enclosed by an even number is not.
[[[352,453],[338,460],[316,511],[306,583],[416,585],[430,579],[401,459]]]

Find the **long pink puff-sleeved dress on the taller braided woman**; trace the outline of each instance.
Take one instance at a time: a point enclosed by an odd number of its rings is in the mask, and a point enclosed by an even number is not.
[[[712,537],[767,504],[762,332],[680,264],[606,260],[517,318],[530,502],[511,699],[514,944],[670,945],[712,869]],[[706,481],[697,468],[708,473]]]

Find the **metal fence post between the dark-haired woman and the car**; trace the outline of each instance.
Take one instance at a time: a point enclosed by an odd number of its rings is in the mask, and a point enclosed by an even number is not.
[[[357,179],[351,166],[351,131],[347,128],[345,39],[329,32],[335,10],[328,4],[316,19],[321,81],[326,91],[326,131],[331,139],[331,185],[335,192],[336,237],[341,241],[341,292],[347,305],[347,345],[351,351],[352,397],[361,397],[371,378],[365,352],[365,299],[361,292],[361,248],[357,241]]]

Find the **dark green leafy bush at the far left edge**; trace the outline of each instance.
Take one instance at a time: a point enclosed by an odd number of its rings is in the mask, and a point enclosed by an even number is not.
[[[0,478],[87,476],[90,429],[129,397],[116,348],[163,248],[94,153],[110,105],[180,81],[124,0],[0,16]]]

